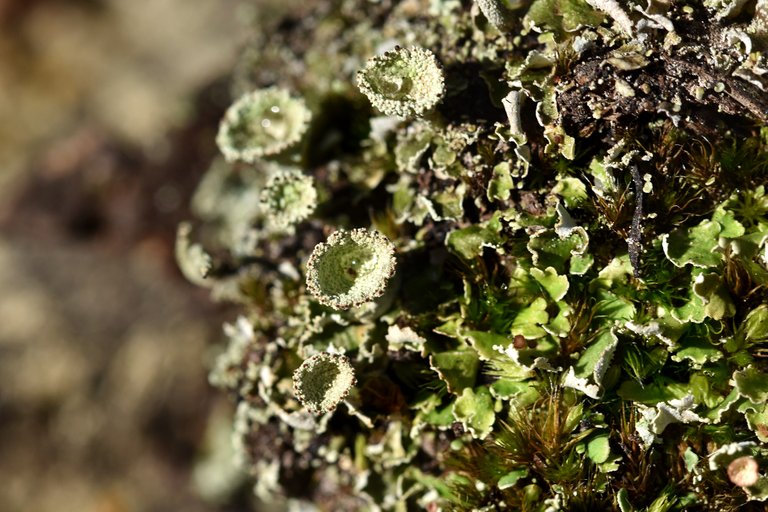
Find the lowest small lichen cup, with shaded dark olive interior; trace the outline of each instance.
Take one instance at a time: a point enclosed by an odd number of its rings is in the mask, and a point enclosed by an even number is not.
[[[355,370],[346,356],[321,352],[293,372],[296,398],[313,414],[330,412],[355,385]]]

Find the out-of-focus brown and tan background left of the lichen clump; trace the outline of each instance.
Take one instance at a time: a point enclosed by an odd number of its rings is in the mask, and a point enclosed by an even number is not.
[[[244,508],[173,239],[253,4],[0,0],[0,511]]]

